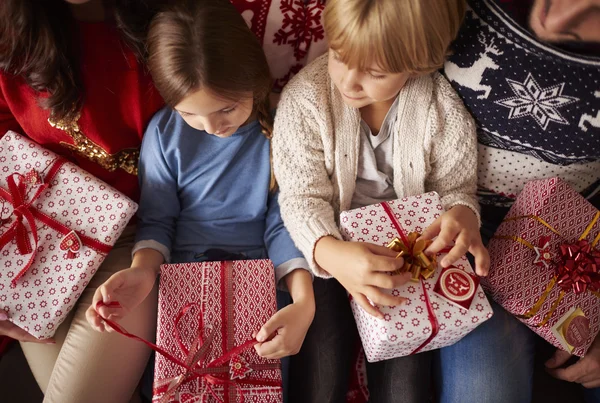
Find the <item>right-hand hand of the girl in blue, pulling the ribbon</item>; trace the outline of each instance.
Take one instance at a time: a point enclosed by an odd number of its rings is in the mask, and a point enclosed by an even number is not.
[[[297,354],[315,316],[314,299],[296,301],[279,310],[253,335],[258,355],[278,359]]]

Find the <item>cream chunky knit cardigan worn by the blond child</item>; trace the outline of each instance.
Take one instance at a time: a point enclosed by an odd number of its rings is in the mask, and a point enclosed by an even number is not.
[[[438,73],[409,79],[400,91],[394,136],[398,197],[436,191],[446,209],[462,204],[478,213],[477,139],[473,119]],[[317,276],[316,242],[342,239],[339,214],[354,194],[360,112],[344,104],[329,78],[327,55],[283,90],[275,117],[273,159],[283,221]]]

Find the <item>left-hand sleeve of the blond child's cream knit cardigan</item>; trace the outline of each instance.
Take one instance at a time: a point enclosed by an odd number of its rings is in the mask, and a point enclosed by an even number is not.
[[[298,90],[301,85],[293,88]],[[318,111],[284,89],[273,130],[273,166],[279,184],[281,216],[296,246],[319,277],[331,277],[314,260],[324,236],[341,239],[332,207],[333,185],[325,163]],[[299,91],[298,91],[299,92]],[[323,118],[321,117],[321,120]]]

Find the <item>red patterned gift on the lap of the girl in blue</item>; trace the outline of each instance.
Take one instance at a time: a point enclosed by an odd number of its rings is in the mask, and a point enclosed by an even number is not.
[[[259,357],[252,346],[227,357],[252,340],[252,333],[276,312],[274,273],[270,260],[161,267],[156,344],[187,362],[189,346],[200,336],[206,354],[191,364],[206,369],[208,376],[186,375],[185,368],[157,354],[153,402],[282,401],[279,360]],[[196,312],[176,323],[189,304],[194,304]],[[185,379],[180,379],[182,375]],[[180,384],[173,387],[177,381]]]

